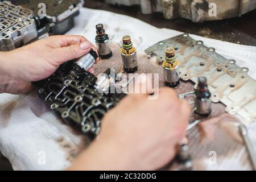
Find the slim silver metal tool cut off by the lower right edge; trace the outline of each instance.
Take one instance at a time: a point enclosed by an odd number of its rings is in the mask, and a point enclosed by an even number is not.
[[[247,151],[249,153],[250,159],[251,159],[251,164],[253,165],[254,170],[256,170],[256,152],[253,148],[253,144],[251,144],[250,138],[247,135],[247,129],[246,126],[241,124],[238,126],[240,133],[243,138],[243,142],[245,143],[245,146],[247,148]]]

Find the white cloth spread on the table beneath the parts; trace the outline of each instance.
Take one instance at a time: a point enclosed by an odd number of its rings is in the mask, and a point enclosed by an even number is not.
[[[96,23],[104,23],[113,42],[119,42],[125,34],[131,35],[138,52],[144,52],[159,40],[181,34],[153,27],[129,16],[91,9],[81,9],[75,28],[68,34],[84,35],[94,43]],[[238,65],[249,67],[249,75],[256,78],[256,47],[191,36],[203,40],[206,46],[216,48],[221,55],[237,60]],[[253,134],[256,127],[253,128],[250,133],[256,143]],[[36,92],[19,96],[0,94],[0,150],[15,170],[65,169],[86,143],[81,134],[51,113]],[[235,169],[243,167],[236,166]]]

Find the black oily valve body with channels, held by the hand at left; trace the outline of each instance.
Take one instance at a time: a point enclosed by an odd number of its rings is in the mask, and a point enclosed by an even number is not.
[[[101,119],[126,96],[124,93],[98,92],[104,82],[86,71],[90,60],[97,59],[93,49],[82,61],[60,65],[52,76],[35,82],[38,95],[65,122],[94,138],[100,132]],[[88,59],[86,61],[86,59]],[[81,66],[80,66],[81,65]],[[98,78],[102,79],[102,75]],[[105,85],[104,85],[105,86]],[[106,89],[109,85],[106,85]]]

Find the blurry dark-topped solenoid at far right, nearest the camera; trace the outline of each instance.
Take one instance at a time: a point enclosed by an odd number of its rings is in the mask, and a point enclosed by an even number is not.
[[[207,85],[207,78],[199,77],[197,88],[195,90],[195,113],[208,116],[211,111],[210,91]]]

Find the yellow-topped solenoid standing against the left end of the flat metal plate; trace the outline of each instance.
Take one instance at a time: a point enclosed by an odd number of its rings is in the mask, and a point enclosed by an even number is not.
[[[179,61],[175,56],[175,49],[166,48],[166,59],[163,61],[164,82],[166,86],[177,87],[179,85]]]

